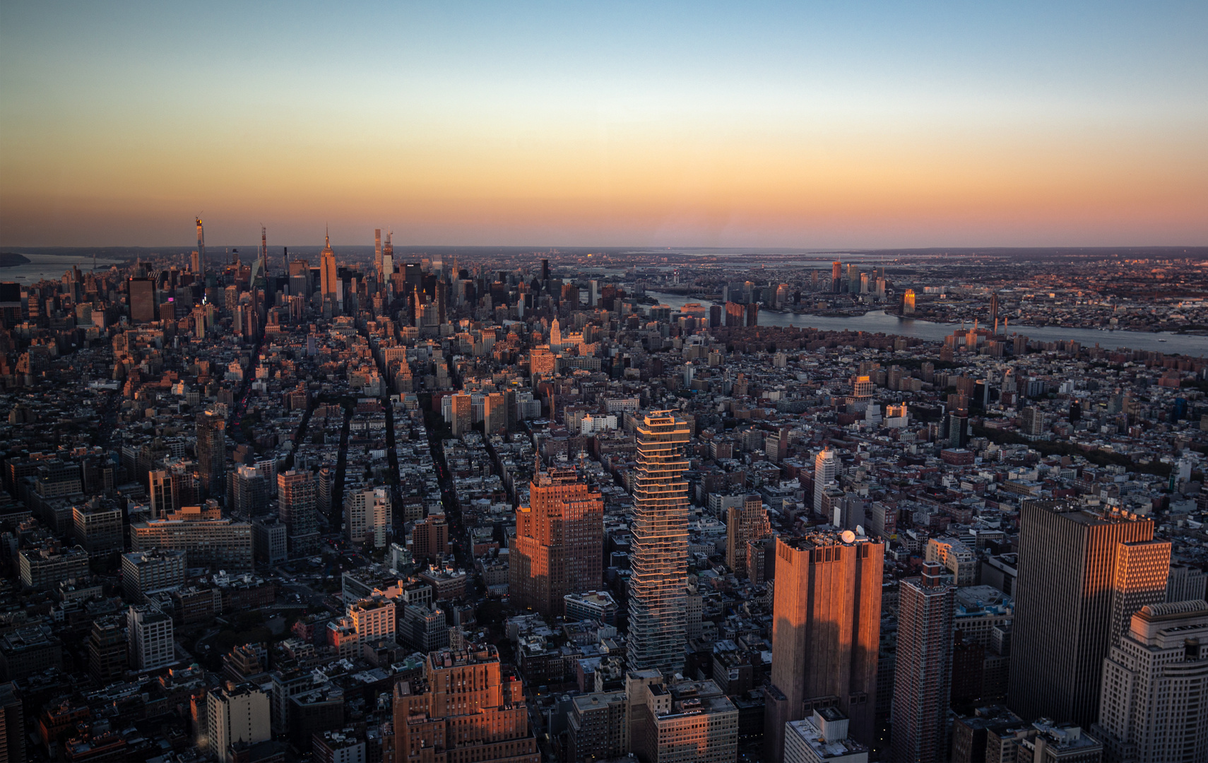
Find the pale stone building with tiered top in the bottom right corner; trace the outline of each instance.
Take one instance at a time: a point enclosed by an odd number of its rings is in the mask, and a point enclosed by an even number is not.
[[[1108,761],[1191,761],[1208,755],[1208,602],[1152,604],[1103,662],[1099,723]]]

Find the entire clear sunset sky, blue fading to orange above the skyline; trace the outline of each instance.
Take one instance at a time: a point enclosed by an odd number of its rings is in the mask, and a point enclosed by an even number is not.
[[[0,246],[1208,244],[1208,4],[0,4]]]

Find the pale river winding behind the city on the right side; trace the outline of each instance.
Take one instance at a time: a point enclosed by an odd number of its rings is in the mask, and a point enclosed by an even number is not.
[[[681,308],[691,302],[718,304],[708,299],[683,297],[661,291],[646,291],[646,295],[673,308]],[[760,326],[800,326],[802,328],[820,328],[824,331],[867,331],[870,333],[898,334],[916,337],[928,342],[942,342],[943,337],[960,328],[960,324],[935,324],[911,318],[885,315],[884,310],[870,310],[864,315],[852,318],[825,318],[821,315],[795,315],[774,310],[759,311]],[[966,325],[971,327],[971,325]],[[1057,342],[1074,339],[1082,346],[1099,345],[1105,349],[1127,348],[1131,350],[1154,350],[1167,354],[1183,354],[1195,357],[1208,356],[1208,337],[1175,333],[1148,333],[1142,331],[1096,331],[1093,328],[1061,328],[1057,326],[1011,326],[1011,333],[1018,333],[1029,339]]]

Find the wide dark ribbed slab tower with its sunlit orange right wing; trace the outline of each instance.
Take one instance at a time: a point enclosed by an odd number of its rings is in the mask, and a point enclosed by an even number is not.
[[[1169,544],[1163,564],[1152,540],[1146,517],[1023,501],[1007,689],[1020,717],[1096,721],[1114,621],[1166,600]]]

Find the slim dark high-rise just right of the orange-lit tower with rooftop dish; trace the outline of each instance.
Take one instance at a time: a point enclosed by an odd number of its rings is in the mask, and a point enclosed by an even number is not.
[[[956,587],[941,582],[939,561],[923,563],[923,577],[901,582],[890,759],[929,763],[947,756],[952,693],[952,619]]]

